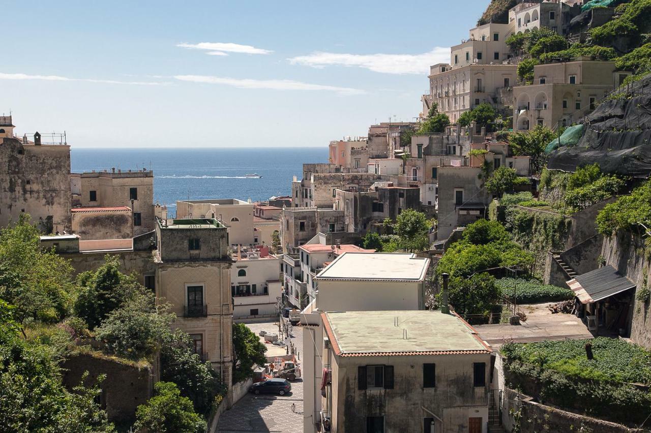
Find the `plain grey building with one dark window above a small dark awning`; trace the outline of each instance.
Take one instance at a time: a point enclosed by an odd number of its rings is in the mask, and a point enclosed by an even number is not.
[[[447,239],[454,228],[486,217],[492,197],[484,190],[478,166],[442,166],[438,177],[436,239]]]

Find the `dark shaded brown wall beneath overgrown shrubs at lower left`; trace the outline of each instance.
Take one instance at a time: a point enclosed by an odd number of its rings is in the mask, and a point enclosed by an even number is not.
[[[111,360],[92,354],[73,353],[62,363],[63,384],[68,389],[79,385],[83,373],[89,376],[85,386],[93,384],[97,376],[106,374],[100,387],[100,404],[105,408],[110,421],[118,423],[135,422],[135,410],[152,397],[154,373],[150,365],[134,365]]]

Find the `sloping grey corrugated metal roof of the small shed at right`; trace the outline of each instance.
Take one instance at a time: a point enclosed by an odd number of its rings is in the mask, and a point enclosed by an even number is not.
[[[583,304],[590,304],[633,289],[635,284],[611,265],[591,270],[567,282]]]

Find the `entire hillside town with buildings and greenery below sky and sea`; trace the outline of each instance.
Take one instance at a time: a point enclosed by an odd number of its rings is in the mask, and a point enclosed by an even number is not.
[[[651,1],[468,12],[264,201],[0,116],[0,430],[651,432]]]

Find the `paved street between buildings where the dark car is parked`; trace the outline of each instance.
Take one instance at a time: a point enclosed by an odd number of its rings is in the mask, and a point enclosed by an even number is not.
[[[257,334],[259,330],[277,330],[273,322],[247,324]],[[275,331],[274,331],[275,332]],[[294,328],[292,343],[303,352],[303,332]],[[292,409],[292,405],[294,408]],[[242,397],[235,406],[224,412],[217,424],[219,433],[302,433],[303,381],[292,382],[288,395],[253,395]]]

